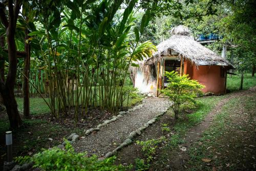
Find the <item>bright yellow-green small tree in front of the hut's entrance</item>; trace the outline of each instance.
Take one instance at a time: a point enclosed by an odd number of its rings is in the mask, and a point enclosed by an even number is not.
[[[195,98],[202,93],[201,89],[204,86],[196,80],[189,79],[186,74],[179,76],[175,71],[165,72],[165,76],[168,78],[168,85],[161,92],[174,102],[171,108],[177,119],[180,106],[187,102],[196,102]]]

